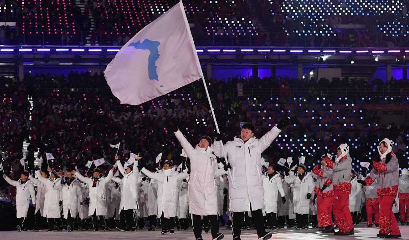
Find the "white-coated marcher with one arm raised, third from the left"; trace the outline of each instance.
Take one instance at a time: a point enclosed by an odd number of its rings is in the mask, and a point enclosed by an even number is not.
[[[60,202],[60,189],[54,188],[54,185],[60,180],[60,178],[57,178],[58,173],[51,170],[51,168],[48,168],[47,171],[49,172],[50,178],[43,178],[41,171],[36,171],[38,180],[46,187],[43,213],[44,217],[47,218],[47,232],[52,232],[54,229],[61,231],[63,223],[60,219],[60,206],[62,205],[62,202]]]

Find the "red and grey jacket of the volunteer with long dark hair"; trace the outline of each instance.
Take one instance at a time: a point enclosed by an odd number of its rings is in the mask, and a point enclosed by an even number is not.
[[[385,163],[385,159],[380,162],[374,161],[372,168],[365,185],[370,186],[376,180],[378,196],[396,196],[399,185],[399,161],[395,154],[391,152],[391,160],[388,163]]]

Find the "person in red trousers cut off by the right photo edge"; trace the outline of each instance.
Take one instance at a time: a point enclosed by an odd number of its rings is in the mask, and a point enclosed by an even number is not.
[[[409,225],[409,171],[406,168],[402,169],[398,191],[400,225],[405,225],[405,221],[406,225]]]

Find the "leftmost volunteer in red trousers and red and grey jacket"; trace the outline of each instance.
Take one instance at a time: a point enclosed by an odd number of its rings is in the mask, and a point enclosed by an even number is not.
[[[321,156],[321,165],[315,165],[312,173],[317,176],[317,186],[315,187],[315,196],[317,198],[317,218],[318,227],[323,233],[335,233],[334,224],[332,221],[331,213],[334,201],[334,190],[332,185],[332,173],[333,170],[326,166],[324,159],[326,157],[332,157],[330,154],[324,154]]]

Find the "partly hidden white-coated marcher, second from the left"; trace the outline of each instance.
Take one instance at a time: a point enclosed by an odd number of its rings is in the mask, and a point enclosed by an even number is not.
[[[48,172],[41,172],[43,178],[49,178]],[[34,216],[36,217],[36,226],[34,227],[33,231],[38,232],[41,231],[41,227],[43,226],[43,212],[44,212],[44,200],[45,200],[45,185],[40,182],[37,178],[33,176],[28,177],[31,182],[37,185],[37,194],[36,194],[36,210],[34,211]]]

